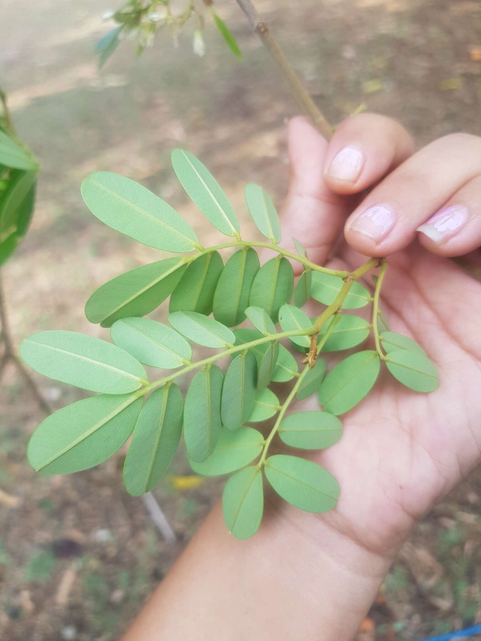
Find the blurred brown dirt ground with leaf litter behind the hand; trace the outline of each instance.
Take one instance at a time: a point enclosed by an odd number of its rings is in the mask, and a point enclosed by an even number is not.
[[[277,203],[285,194],[284,124],[296,104],[237,5],[222,0],[218,10],[239,40],[242,63],[208,26],[205,58],[192,54],[188,29],[178,48],[165,35],[141,58],[123,42],[99,74],[92,48],[106,29],[99,12],[116,8],[109,1],[0,5],[0,83],[42,162],[31,231],[3,269],[17,343],[41,329],[105,337],[83,315],[87,297],[163,257],[90,214],[79,189],[90,171],[142,181],[179,208],[203,244],[216,235],[176,182],[173,147],[201,157],[239,212],[248,181]],[[262,0],[258,8],[332,122],[364,103],[400,119],[419,144],[458,130],[481,134],[478,0]],[[245,217],[241,224],[251,223]],[[81,397],[36,379],[55,408]],[[119,638],[221,482],[191,476],[177,456],[155,490],[178,537],[166,544],[142,501],[122,489],[124,451],[97,469],[37,478],[25,449],[40,420],[9,370],[0,417],[0,638]],[[480,506],[477,473],[415,529],[359,638],[419,640],[481,621]]]

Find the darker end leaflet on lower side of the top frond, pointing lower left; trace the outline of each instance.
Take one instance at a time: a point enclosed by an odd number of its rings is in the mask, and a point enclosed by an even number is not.
[[[173,292],[186,268],[183,258],[135,267],[96,289],[85,305],[85,315],[102,327],[128,316],[145,316]]]

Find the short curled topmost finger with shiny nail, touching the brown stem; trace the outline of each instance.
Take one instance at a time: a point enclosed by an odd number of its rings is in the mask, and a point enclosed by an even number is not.
[[[357,194],[413,152],[414,141],[399,122],[359,113],[335,130],[324,161],[325,183],[338,194]]]

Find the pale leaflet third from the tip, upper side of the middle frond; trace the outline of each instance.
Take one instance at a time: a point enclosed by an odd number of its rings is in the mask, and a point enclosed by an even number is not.
[[[197,312],[174,312],[169,314],[169,323],[186,338],[204,347],[230,347],[235,342],[229,328]]]

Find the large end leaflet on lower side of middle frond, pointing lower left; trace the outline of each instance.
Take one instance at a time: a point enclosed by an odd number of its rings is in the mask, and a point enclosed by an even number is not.
[[[143,402],[138,394],[102,394],[57,410],[31,436],[28,462],[42,474],[70,474],[103,463],[130,437]]]

